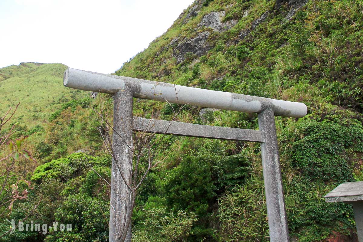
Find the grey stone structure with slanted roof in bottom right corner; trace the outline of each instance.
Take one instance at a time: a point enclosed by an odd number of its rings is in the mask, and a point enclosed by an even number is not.
[[[358,241],[363,242],[363,181],[345,182],[324,196],[326,202],[353,205]]]

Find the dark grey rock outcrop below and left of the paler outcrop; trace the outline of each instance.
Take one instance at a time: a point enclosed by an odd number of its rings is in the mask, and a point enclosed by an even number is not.
[[[185,54],[188,52],[191,52],[196,56],[203,56],[207,53],[208,50],[211,49],[211,46],[209,46],[207,42],[209,35],[209,32],[202,32],[195,38],[180,42],[174,49],[174,56],[176,57],[177,62],[183,62],[185,60]]]

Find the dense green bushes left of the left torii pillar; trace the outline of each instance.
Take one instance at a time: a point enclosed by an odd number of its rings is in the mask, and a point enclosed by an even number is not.
[[[34,171],[34,189],[26,202],[16,206],[11,217],[23,218],[40,200],[37,213],[24,223],[48,224],[53,221],[72,224],[72,232],[49,229],[47,234],[16,231],[6,241],[108,241],[109,189],[102,175],[110,181],[110,159],[95,158],[83,153],[53,160]],[[9,224],[0,223],[0,230]]]

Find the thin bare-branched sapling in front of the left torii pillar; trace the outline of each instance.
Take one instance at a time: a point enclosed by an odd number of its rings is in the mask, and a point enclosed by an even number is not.
[[[116,106],[116,103],[114,104]],[[131,103],[132,105],[132,103]],[[174,122],[176,116],[179,114],[179,112],[182,110],[183,107],[179,108],[179,110],[175,109],[175,105],[168,103],[168,106],[170,106],[170,109],[172,110],[172,118],[171,122],[169,122],[169,126],[166,127],[166,131],[164,134],[167,133],[169,127],[171,126],[172,122]],[[118,218],[118,221],[122,221],[122,231],[118,231],[117,235],[117,241],[118,242],[124,242],[129,241],[130,238],[130,229],[131,229],[131,217],[132,212],[135,207],[135,200],[136,200],[136,194],[138,192],[138,189],[140,188],[142,182],[150,172],[152,168],[155,168],[165,157],[167,157],[167,154],[164,154],[163,156],[158,157],[158,154],[163,153],[165,147],[161,147],[160,144],[162,144],[164,140],[164,135],[156,135],[155,132],[152,132],[152,126],[153,118],[155,118],[155,106],[154,101],[152,101],[152,108],[151,108],[151,119],[148,120],[148,123],[146,124],[146,131],[143,132],[134,132],[134,130],[141,130],[137,126],[137,122],[134,120],[134,127],[131,127],[131,125],[125,125],[123,126],[124,129],[130,129],[129,131],[132,134],[131,138],[125,137],[123,134],[121,134],[117,128],[115,128],[115,124],[122,122],[122,120],[112,120],[110,118],[112,115],[110,115],[111,110],[107,108],[105,105],[105,102],[101,102],[99,110],[96,110],[93,108],[93,110],[98,114],[99,116],[99,126],[97,127],[99,133],[102,136],[103,143],[105,145],[105,149],[109,154],[111,155],[112,159],[114,160],[114,163],[117,167],[117,171],[121,175],[123,182],[123,185],[125,186],[125,190],[123,190],[122,194],[117,194],[119,199],[121,198],[123,201],[123,204],[125,206],[126,212],[122,214],[116,214],[116,216],[120,216]],[[129,120],[131,122],[131,120]],[[113,123],[113,124],[112,124]],[[127,123],[127,122],[123,122]],[[125,130],[124,130],[125,131]],[[128,133],[130,133],[128,132]],[[125,132],[123,132],[125,133]],[[124,148],[129,150],[131,152],[131,166],[127,167],[127,164],[125,165],[123,163],[123,157],[119,157],[118,152],[116,149],[123,149],[122,145],[118,145],[113,143],[113,140],[118,139],[119,143],[123,143],[125,145]],[[164,149],[163,149],[164,148]],[[171,151],[169,151],[171,152]],[[126,152],[127,153],[127,152]],[[164,158],[163,158],[164,157]],[[158,159],[157,159],[158,158]],[[112,182],[111,182],[112,183]],[[111,186],[111,184],[109,183]],[[116,187],[111,187],[115,192],[119,191],[120,189]],[[128,193],[127,196],[123,196],[123,193]],[[111,197],[112,200],[112,197]]]

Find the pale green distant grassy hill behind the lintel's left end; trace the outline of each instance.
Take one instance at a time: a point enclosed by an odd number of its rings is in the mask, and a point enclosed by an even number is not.
[[[62,103],[84,97],[84,92],[63,86],[67,66],[53,63],[20,63],[0,69],[0,113],[20,102],[14,121],[33,128],[48,120]]]

